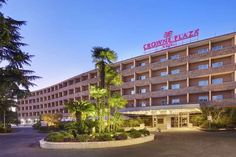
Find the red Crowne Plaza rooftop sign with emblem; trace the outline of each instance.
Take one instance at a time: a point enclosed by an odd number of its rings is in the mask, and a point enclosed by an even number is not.
[[[172,34],[173,34],[173,31],[165,32],[164,34],[165,39],[157,40],[157,41],[150,42],[143,45],[144,51],[150,50],[153,48],[158,48],[158,47],[169,48],[172,46],[176,46],[178,41],[183,41],[186,39],[199,36],[199,29],[192,30],[183,34],[174,35],[174,36],[172,36]]]

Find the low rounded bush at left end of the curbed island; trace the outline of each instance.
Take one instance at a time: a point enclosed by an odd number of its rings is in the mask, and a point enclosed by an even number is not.
[[[73,136],[67,132],[53,132],[46,137],[46,141],[50,142],[69,142],[72,139]]]

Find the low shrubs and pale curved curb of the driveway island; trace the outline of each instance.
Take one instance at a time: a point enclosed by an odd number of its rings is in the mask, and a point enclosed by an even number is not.
[[[40,140],[40,147],[46,149],[89,149],[129,146],[154,140],[148,130],[131,129],[128,132],[100,135],[73,135],[67,132],[54,132]]]

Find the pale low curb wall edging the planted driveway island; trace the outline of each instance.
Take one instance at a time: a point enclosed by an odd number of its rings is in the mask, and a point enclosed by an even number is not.
[[[154,140],[154,135],[131,138],[118,141],[101,141],[101,142],[48,142],[40,140],[40,147],[45,149],[94,149],[94,148],[111,148],[141,144]]]

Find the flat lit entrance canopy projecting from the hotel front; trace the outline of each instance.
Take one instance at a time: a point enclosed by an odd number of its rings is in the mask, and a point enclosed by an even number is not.
[[[179,113],[201,113],[199,104],[133,107],[120,110],[128,115],[175,115]]]

